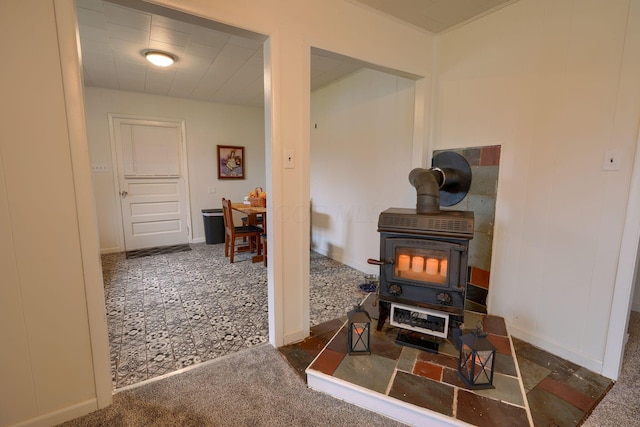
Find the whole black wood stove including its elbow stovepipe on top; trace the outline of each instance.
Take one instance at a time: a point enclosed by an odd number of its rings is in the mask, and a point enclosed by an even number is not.
[[[455,203],[466,195],[470,169],[462,169],[464,174],[449,168],[414,169],[409,181],[418,190],[416,209],[389,208],[380,214],[380,259],[368,260],[380,266],[377,330],[391,315],[394,326],[446,338],[463,321],[474,214],[440,209],[443,188],[458,186],[451,191]],[[462,180],[467,182],[460,187]]]

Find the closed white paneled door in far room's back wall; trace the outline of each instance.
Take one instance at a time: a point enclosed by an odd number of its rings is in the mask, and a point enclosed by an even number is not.
[[[116,117],[125,250],[189,241],[182,124]]]

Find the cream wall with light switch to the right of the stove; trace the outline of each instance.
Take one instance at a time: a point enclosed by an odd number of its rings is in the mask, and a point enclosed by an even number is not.
[[[596,372],[640,116],[639,5],[521,0],[439,40],[434,147],[502,145],[489,311]],[[607,149],[621,170],[602,170]]]

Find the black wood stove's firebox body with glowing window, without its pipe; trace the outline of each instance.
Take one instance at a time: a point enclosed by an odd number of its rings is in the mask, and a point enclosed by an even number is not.
[[[473,219],[466,211],[382,212],[380,260],[369,260],[380,266],[379,300],[464,316]],[[381,313],[378,330],[387,316]]]

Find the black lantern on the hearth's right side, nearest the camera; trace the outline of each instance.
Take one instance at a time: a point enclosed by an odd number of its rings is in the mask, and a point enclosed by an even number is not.
[[[496,348],[480,328],[460,337],[458,376],[470,389],[487,389],[493,386],[493,368]]]

